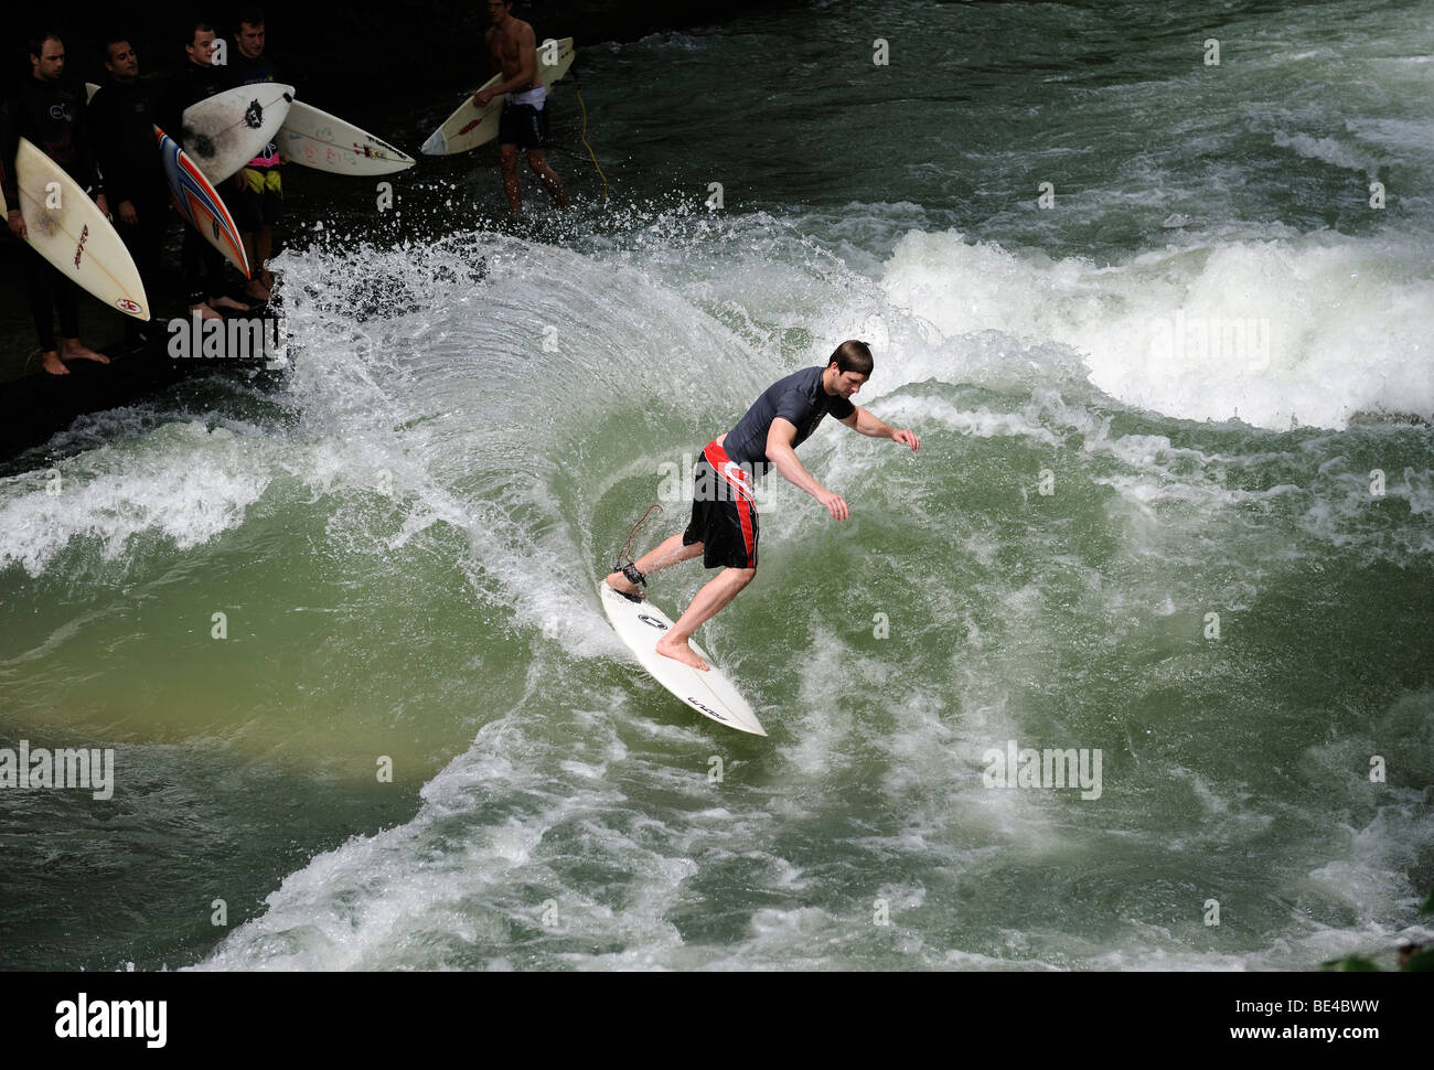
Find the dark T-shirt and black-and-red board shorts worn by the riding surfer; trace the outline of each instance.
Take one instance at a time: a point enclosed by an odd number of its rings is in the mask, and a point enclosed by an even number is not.
[[[770,468],[767,433],[779,416],[789,420],[797,436],[796,449],[832,413],[845,420],[856,406],[822,387],[823,367],[807,367],[763,390],[747,415],[727,432],[723,445],[713,439],[694,469],[693,519],[683,532],[683,545],[703,544],[707,568],[757,567],[757,505],[751,480]]]

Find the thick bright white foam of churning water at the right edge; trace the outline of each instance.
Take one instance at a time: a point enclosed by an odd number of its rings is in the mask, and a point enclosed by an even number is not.
[[[948,338],[1068,346],[1101,390],[1167,416],[1279,430],[1434,416],[1434,278],[1412,238],[1222,240],[1098,267],[913,231],[882,285]]]

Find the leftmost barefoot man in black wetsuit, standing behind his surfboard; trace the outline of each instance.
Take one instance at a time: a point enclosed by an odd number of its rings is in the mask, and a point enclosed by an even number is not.
[[[100,189],[95,153],[85,122],[85,90],[65,83],[65,42],[56,33],[39,33],[30,40],[30,77],[20,92],[6,100],[4,129],[0,146],[0,185],[9,208],[10,232],[24,241],[29,234],[20,212],[20,191],[14,174],[14,156],[20,138],[26,138],[40,152],[65,168],[65,174],[86,189]],[[103,192],[95,194],[100,212],[109,215]],[[52,376],[67,376],[66,360],[98,360],[109,357],[96,353],[79,340],[80,290],[75,283],[50,267],[39,252],[26,254],[30,273],[30,314],[40,337],[40,364]],[[54,310],[60,313],[60,344],[54,343]]]

